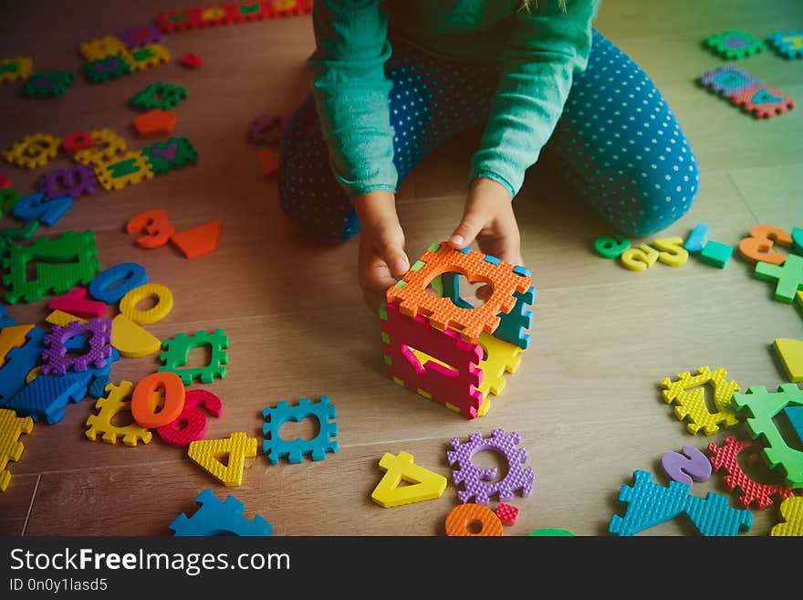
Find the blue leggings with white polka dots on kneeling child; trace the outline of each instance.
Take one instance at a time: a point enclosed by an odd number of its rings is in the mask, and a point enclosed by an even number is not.
[[[386,72],[400,183],[438,144],[485,123],[499,78],[497,66],[439,61],[398,45]],[[576,195],[634,236],[683,216],[699,187],[694,153],[661,92],[596,31],[589,66],[574,79],[544,153]],[[360,223],[331,173],[311,95],[287,123],[281,157],[279,201],[287,215],[319,241],[357,235]]]

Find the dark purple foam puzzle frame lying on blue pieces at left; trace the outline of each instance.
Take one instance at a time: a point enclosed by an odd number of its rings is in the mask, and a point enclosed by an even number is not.
[[[89,350],[80,356],[68,356],[68,340],[76,335],[91,334]],[[54,325],[45,337],[47,350],[42,353],[42,373],[66,374],[72,367],[77,372],[86,371],[89,365],[102,368],[111,356],[111,321],[90,319],[86,323],[72,321],[67,327]]]

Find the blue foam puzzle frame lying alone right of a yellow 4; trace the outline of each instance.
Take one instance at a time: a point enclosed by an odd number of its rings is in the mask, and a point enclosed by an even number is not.
[[[267,407],[262,411],[266,423],[262,426],[262,433],[266,440],[262,442],[262,451],[272,465],[279,462],[279,458],[287,457],[290,463],[298,463],[308,454],[313,460],[323,460],[327,452],[338,452],[338,424],[334,422],[335,405],[331,404],[329,397],[320,396],[318,402],[313,403],[309,398],[301,398],[297,405],[287,402],[277,402],[273,408]],[[287,421],[300,421],[312,417],[318,419],[318,436],[312,439],[294,439],[288,441],[279,436],[279,429]]]

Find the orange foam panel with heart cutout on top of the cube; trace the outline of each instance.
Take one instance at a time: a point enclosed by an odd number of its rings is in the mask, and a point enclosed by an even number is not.
[[[474,283],[481,281],[493,288],[485,304],[463,309],[449,298],[430,296],[427,285],[443,273],[462,273]],[[514,293],[526,293],[532,286],[530,272],[498,258],[474,250],[455,250],[442,243],[433,244],[395,286],[388,289],[389,303],[399,305],[401,314],[415,317],[421,313],[441,331],[452,328],[470,343],[477,343],[481,332],[493,333],[499,326],[500,312],[516,306]]]

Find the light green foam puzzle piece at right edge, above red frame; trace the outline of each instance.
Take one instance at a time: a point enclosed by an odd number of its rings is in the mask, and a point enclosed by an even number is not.
[[[797,384],[782,384],[777,392],[767,392],[766,387],[755,385],[748,387],[746,394],[734,394],[733,404],[736,410],[746,412],[750,436],[764,436],[762,454],[769,467],[782,468],[790,488],[803,488],[803,452],[787,444],[773,421],[788,406],[803,406],[803,390]]]

